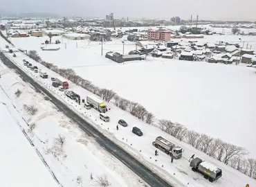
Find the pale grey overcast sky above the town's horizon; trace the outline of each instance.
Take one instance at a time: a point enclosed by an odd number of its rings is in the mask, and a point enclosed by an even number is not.
[[[1,1],[1,8],[22,12],[53,12],[62,16],[190,19],[244,19],[256,21],[255,0],[12,0]]]

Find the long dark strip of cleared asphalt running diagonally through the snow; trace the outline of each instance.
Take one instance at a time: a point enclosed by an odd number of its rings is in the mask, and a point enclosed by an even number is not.
[[[51,102],[58,109],[60,109],[60,111],[66,114],[66,116],[68,116],[68,118],[71,118],[75,123],[80,125],[80,128],[84,130],[84,132],[86,132],[86,134],[88,134],[89,136],[93,136],[95,141],[97,141],[104,150],[107,150],[110,154],[112,154],[114,157],[124,163],[125,166],[127,166],[130,170],[136,173],[136,175],[143,179],[147,184],[156,187],[173,187],[171,184],[165,181],[165,179],[156,175],[156,173],[144,166],[143,163],[140,163],[140,161],[131,156],[131,154],[125,152],[125,150],[116,145],[116,143],[113,143],[113,141],[109,140],[106,136],[101,134],[98,130],[95,129],[95,127],[90,125],[90,123],[84,121],[82,117],[75,114],[75,112],[69,109],[60,100],[55,98],[55,96],[53,96],[47,89],[35,82],[33,78],[30,78],[30,76],[26,75],[26,73],[24,73],[24,71],[22,71],[19,66],[10,61],[2,52],[0,52],[0,59],[3,64],[8,66],[9,69],[15,69],[22,78],[22,80],[32,84],[38,93],[42,93],[48,96],[48,98],[51,98]]]

